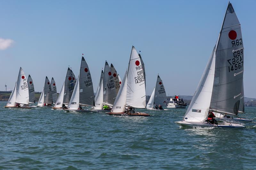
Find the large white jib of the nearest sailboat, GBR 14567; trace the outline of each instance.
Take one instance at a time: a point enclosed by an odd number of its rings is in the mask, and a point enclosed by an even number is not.
[[[204,73],[196,88],[196,92],[188,106],[188,110],[183,118],[184,121],[202,122],[206,120],[208,116],[214,80],[215,50],[216,46],[213,48],[212,55],[209,58]]]

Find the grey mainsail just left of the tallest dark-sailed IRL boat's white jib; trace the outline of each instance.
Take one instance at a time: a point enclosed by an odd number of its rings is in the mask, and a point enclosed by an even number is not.
[[[72,82],[73,82],[73,75],[70,68],[68,67],[68,71],[65,79],[65,85],[64,85],[64,97],[63,97],[64,104],[68,104],[72,96],[72,93],[74,90],[74,84],[72,84]]]

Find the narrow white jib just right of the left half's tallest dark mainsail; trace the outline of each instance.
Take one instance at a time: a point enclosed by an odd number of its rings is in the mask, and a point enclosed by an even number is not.
[[[95,96],[95,107],[93,107],[94,109],[103,108],[103,75],[104,75],[104,72],[103,70],[101,70],[100,83],[98,85],[96,96]]]

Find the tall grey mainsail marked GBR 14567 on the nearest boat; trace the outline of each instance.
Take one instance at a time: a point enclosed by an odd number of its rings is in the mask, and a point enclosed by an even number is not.
[[[241,26],[228,3],[216,46],[216,63],[210,108],[237,115],[243,96],[244,46]]]

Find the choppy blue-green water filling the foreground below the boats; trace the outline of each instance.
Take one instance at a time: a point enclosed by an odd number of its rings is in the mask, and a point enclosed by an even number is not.
[[[149,117],[6,109],[0,102],[0,169],[255,169],[256,107],[246,129],[180,129],[185,109]]]

